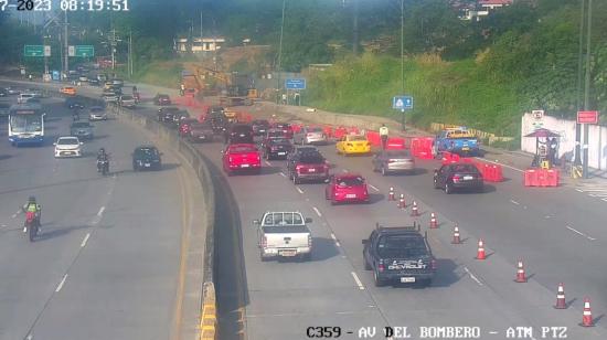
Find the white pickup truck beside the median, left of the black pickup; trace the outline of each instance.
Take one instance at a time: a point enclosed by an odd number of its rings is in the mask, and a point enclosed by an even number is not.
[[[300,212],[266,212],[262,220],[253,221],[257,226],[259,257],[300,257],[310,259],[312,234],[306,225],[312,219],[303,219]]]

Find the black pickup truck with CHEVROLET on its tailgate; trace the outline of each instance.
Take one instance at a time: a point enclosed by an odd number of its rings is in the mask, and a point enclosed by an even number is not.
[[[429,286],[436,273],[436,259],[427,237],[418,226],[385,227],[376,225],[363,240],[363,262],[373,270],[376,287],[412,283]]]

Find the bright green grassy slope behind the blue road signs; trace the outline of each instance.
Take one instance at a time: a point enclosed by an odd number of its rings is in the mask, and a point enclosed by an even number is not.
[[[401,93],[400,60],[365,54],[310,75],[307,103],[396,118],[400,113],[392,109],[392,97]],[[444,62],[429,54],[406,61],[405,94],[415,102],[407,120],[418,127],[440,121],[515,136],[525,107],[517,96],[517,84],[492,82],[476,61]]]

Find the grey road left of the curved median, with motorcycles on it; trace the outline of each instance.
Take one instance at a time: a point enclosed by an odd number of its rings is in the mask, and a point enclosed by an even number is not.
[[[1,85],[1,84],[0,84]],[[182,225],[179,162],[134,173],[130,152],[149,139],[116,120],[95,123],[79,159],[54,159],[71,114],[47,106],[47,144],[13,148],[0,125],[0,339],[168,339],[178,291]],[[111,176],[95,169],[99,147]],[[34,243],[18,209],[42,204]]]

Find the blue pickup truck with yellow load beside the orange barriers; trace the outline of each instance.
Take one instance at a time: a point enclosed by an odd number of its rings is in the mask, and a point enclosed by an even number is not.
[[[448,151],[459,156],[479,155],[479,141],[466,127],[446,128],[436,136],[434,141],[435,156]]]

